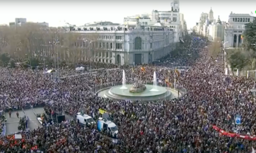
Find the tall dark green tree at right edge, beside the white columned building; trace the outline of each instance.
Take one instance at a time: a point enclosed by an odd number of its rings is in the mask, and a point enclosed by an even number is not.
[[[256,44],[256,18],[254,18],[253,22],[245,24],[245,31],[243,32],[242,38],[243,46],[246,50],[254,50],[256,52],[256,46],[252,45]]]

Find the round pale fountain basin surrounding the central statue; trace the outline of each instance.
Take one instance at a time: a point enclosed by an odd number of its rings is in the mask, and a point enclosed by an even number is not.
[[[144,84],[146,90],[141,93],[131,93],[129,89],[133,84],[126,84],[127,89],[121,89],[121,86],[114,86],[98,92],[99,96],[108,97],[115,100],[140,100],[140,101],[154,101],[161,99],[171,99],[177,97],[177,93],[166,87],[154,86],[151,84]]]

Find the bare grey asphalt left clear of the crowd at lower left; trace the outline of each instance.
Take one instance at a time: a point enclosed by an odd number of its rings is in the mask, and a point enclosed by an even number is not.
[[[43,108],[34,108],[34,111],[36,114],[42,114],[44,113]],[[26,109],[24,110],[26,116],[30,119],[28,122],[28,129],[34,130],[37,129],[38,127],[42,127],[42,125],[39,123],[38,120],[36,120],[36,116],[34,114],[33,109]],[[5,112],[5,117],[7,119],[6,122],[6,135],[12,134],[18,131],[18,125],[19,125],[19,120],[21,117],[23,117],[25,114],[23,111],[18,111],[19,113],[19,118],[16,116],[16,111],[11,112],[11,117],[9,116],[9,112]],[[71,120],[72,117],[65,114],[65,120]]]

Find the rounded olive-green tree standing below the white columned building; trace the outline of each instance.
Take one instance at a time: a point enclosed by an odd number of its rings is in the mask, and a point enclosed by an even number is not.
[[[228,55],[228,63],[233,73],[235,69],[238,69],[239,71],[241,71],[243,67],[247,65],[247,59],[245,54],[241,52],[241,50],[234,50],[234,52],[231,52]]]

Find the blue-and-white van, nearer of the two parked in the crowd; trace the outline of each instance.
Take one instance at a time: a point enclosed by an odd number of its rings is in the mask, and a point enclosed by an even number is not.
[[[117,125],[102,117],[98,118],[97,130],[100,132],[107,132],[113,138],[116,138],[118,134]]]

